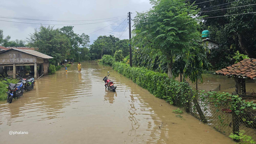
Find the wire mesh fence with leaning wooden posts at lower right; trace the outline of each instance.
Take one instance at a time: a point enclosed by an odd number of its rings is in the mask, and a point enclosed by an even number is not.
[[[187,98],[187,102],[184,103],[183,101],[181,103],[177,99],[174,101],[174,105],[182,107],[186,112],[189,112],[227,137],[231,133],[238,135],[239,132],[244,132],[244,135],[248,135],[256,140],[256,109],[249,106],[245,107],[245,104],[249,105],[248,102],[246,103],[244,100],[241,100],[235,103],[229,97],[231,96],[230,94],[225,95],[228,97],[226,100],[223,100],[224,102],[222,100],[219,101],[216,97],[209,96],[210,94],[207,92],[197,93],[198,95],[195,96],[195,92],[191,91],[191,94],[194,95]],[[239,112],[236,110],[239,110]]]

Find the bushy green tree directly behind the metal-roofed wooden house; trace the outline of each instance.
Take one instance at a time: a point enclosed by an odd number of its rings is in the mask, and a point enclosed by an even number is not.
[[[53,29],[50,26],[40,26],[39,30],[30,34],[28,41],[30,47],[37,48],[40,53],[52,56],[53,59],[50,59],[50,62],[54,65],[67,57],[71,47],[69,38],[59,29]]]

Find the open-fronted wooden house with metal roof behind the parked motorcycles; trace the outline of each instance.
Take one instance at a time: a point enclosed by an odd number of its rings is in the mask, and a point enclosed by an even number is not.
[[[5,74],[8,74],[8,67],[12,67],[13,78],[16,78],[16,74],[24,76],[26,74],[26,66],[30,66],[30,75],[34,75],[34,78],[37,79],[39,76],[48,75],[48,59],[51,58],[53,57],[35,50],[11,48],[0,51],[0,67],[4,68]]]

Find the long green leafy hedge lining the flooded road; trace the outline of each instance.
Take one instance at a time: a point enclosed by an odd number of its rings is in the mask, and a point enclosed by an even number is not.
[[[132,79],[151,94],[176,106],[185,106],[191,99],[192,88],[188,83],[168,78],[166,73],[158,73],[146,68],[130,67],[128,64],[115,62],[112,67],[118,73]]]

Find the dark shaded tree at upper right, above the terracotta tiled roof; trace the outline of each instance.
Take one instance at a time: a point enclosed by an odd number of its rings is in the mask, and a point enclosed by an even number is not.
[[[229,2],[231,1],[229,0]],[[256,15],[243,13],[256,12],[255,5],[244,6],[255,3],[256,0],[232,2],[231,7],[236,8],[229,9],[226,13],[226,15],[239,14],[226,17],[228,22],[225,25],[225,29],[229,30],[234,39],[238,40],[241,50],[250,58],[256,58]]]

